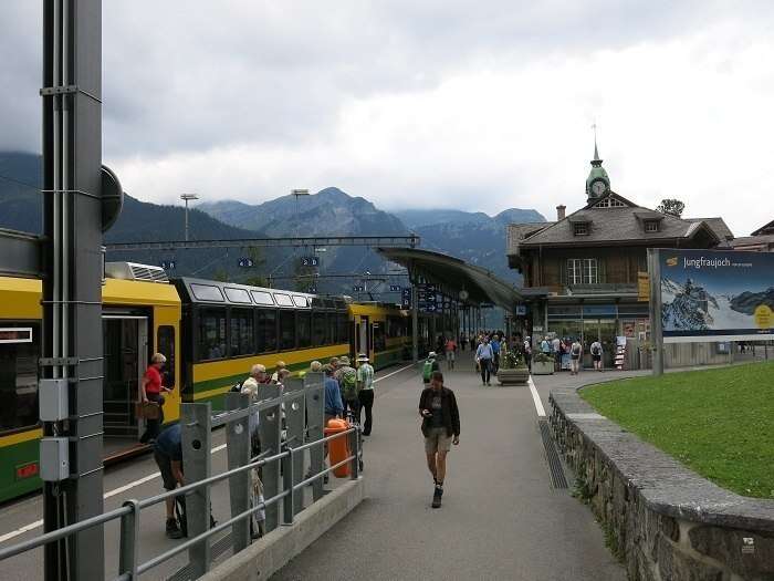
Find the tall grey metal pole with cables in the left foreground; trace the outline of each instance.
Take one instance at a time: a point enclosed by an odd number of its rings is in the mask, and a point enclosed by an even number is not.
[[[66,383],[69,417],[45,422],[66,438],[70,475],[46,481],[46,532],[103,511],[102,2],[43,2],[43,333],[41,394]],[[61,385],[61,384],[60,384]],[[45,461],[45,459],[44,459]],[[103,527],[44,550],[48,581],[102,579]]]

